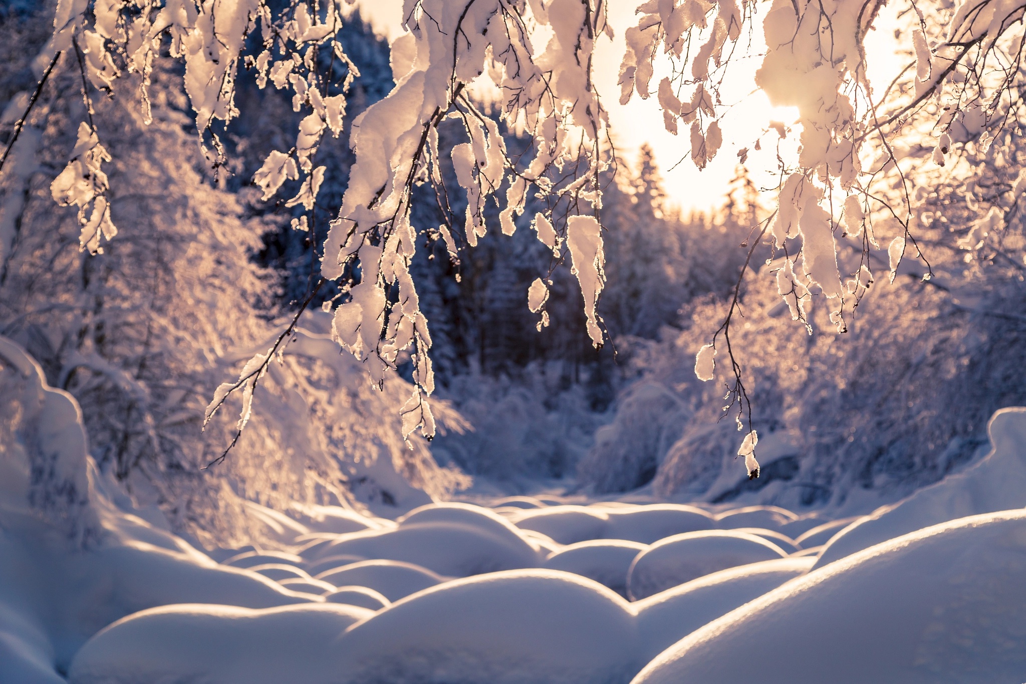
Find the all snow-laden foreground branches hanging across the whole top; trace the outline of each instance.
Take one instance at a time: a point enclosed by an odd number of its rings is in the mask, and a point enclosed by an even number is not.
[[[869,253],[883,248],[874,216],[887,213],[900,228],[883,231],[892,233],[884,269],[891,278],[906,254],[921,258],[930,275],[912,222],[915,200],[903,152],[909,121],[933,122],[933,132],[920,132],[916,144],[922,134],[936,133],[932,163],[941,164],[958,130],[982,135],[987,147],[1020,103],[1020,4],[913,4],[918,24],[906,35],[915,55],[914,77],[907,87],[875,93],[867,76],[865,38],[882,6],[774,0],[761,22],[766,51],[755,84],[774,105],[797,108],[801,131],[797,151],[781,158],[777,210],[747,241],[749,259],[767,238],[786,256],[778,263],[776,282],[792,319],[807,323],[815,294],[825,300],[830,323],[840,331],[847,329],[872,277]],[[273,84],[289,91],[293,109],[304,114],[294,144],[272,150],[254,183],[270,198],[287,180],[298,182],[285,203],[305,209],[293,225],[309,230],[328,170],[318,160],[318,147],[326,135],[343,133],[347,93],[357,75],[339,40],[346,9],[340,0],[287,5],[61,0],[36,69],[41,83],[55,69],[78,72],[87,100],[94,94],[90,90],[127,89],[121,87],[127,86],[125,74],[137,73],[140,80],[129,87],[137,85],[142,117],[149,120],[150,75],[160,50],[167,49],[185,64],[201,147],[215,169],[228,163],[225,126],[247,116],[236,106],[237,72],[243,65],[252,69],[260,87]],[[734,0],[648,0],[637,9],[637,25],[627,30],[621,102],[633,93],[657,95],[667,128],[688,127],[690,157],[699,167],[722,144],[720,87],[732,55],[744,51],[746,34],[756,29],[755,9],[754,3]],[[485,209],[492,203],[501,206],[502,232],[513,233],[528,196],[541,193],[546,209],[536,213],[531,228],[558,259],[569,261],[584,295],[587,332],[596,346],[604,340],[596,307],[605,282],[600,179],[609,151],[592,58],[596,42],[611,30],[599,0],[406,0],[403,16],[408,33],[392,46],[395,87],[351,126],[355,163],[323,243],[321,280],[304,301],[312,301],[326,281],[339,284],[332,334],[376,384],[408,353],[416,391],[402,410],[403,434],[420,428],[430,437],[432,341],[410,272],[419,235],[437,236],[450,246],[453,234],[462,233],[476,245],[487,230]],[[935,34],[932,27],[947,30]],[[654,91],[660,59],[669,61],[671,73]],[[499,124],[470,95],[482,83],[498,88],[502,120],[523,131],[528,145],[508,148]],[[27,93],[26,109],[36,99]],[[462,226],[448,219],[438,227],[415,226],[417,186],[433,186],[443,196],[437,131],[448,119],[462,124],[467,140],[451,152],[467,197],[464,220]],[[76,126],[72,159],[51,190],[58,202],[77,207],[83,248],[98,251],[117,232],[104,171],[109,155],[90,118]],[[22,123],[15,123],[10,139],[21,131]],[[840,226],[863,251],[862,261],[843,277],[837,258]],[[543,277],[528,292],[528,307],[543,318],[547,293]],[[754,476],[757,435],[731,344],[738,301],[735,296],[695,367],[699,377],[711,378],[717,352],[729,358],[728,405],[737,410],[739,429],[748,428],[739,453],[746,455]],[[208,414],[235,390],[250,397],[279,344],[254,357],[238,381],[227,384]],[[247,400],[243,413],[248,410]]]

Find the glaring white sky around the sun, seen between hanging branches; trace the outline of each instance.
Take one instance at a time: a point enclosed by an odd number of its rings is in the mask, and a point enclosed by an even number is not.
[[[724,131],[723,145],[716,158],[703,170],[696,168],[690,161],[688,128],[681,126],[678,135],[667,132],[663,124],[663,112],[655,95],[648,99],[641,99],[635,93],[626,106],[620,105],[620,87],[617,85],[617,80],[620,62],[624,54],[623,36],[625,29],[634,22],[634,8],[637,4],[638,2],[633,0],[617,0],[608,3],[609,23],[614,27],[616,38],[613,41],[600,40],[594,65],[596,87],[609,111],[613,139],[621,157],[633,165],[638,148],[647,143],[656,151],[665,189],[671,202],[677,204],[684,212],[692,209],[705,211],[722,205],[727,185],[738,164],[738,151],[743,148],[749,150],[747,165],[756,187],[776,188],[779,182],[776,163],[776,145],[779,136],[774,130],[771,130],[770,134],[764,133],[771,121],[792,123],[796,118],[796,110],[774,108],[761,92],[753,93],[743,89],[754,85],[755,70],[760,62],[758,57],[736,58],[731,67],[732,72],[721,91],[723,105],[733,105],[722,117],[720,124]],[[357,0],[357,5],[379,33],[394,38],[402,32],[400,26],[402,0]],[[881,32],[875,33],[877,36],[871,36],[867,43],[880,37]],[[756,34],[758,35],[752,36],[751,42],[753,51],[759,52],[762,50],[761,31],[756,31]],[[742,42],[747,43],[745,36],[742,37]],[[878,50],[869,51],[870,54],[874,52],[879,53]],[[736,54],[735,57],[737,56]],[[650,85],[654,90],[664,75],[657,71]],[[876,82],[876,79],[873,81]],[[728,83],[735,84],[736,87],[729,89],[726,87]],[[755,152],[754,144],[760,136],[763,150]],[[782,144],[782,151],[783,146],[787,146],[795,137],[796,134],[792,134],[789,140],[785,140]]]

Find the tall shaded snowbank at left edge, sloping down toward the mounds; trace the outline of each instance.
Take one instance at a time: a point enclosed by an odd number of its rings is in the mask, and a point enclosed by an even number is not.
[[[221,566],[133,514],[90,458],[74,399],[0,337],[0,681],[65,668],[105,626],[169,603],[319,601]],[[7,636],[10,635],[10,636]],[[7,657],[10,655],[10,657]],[[38,674],[38,673],[37,673]]]

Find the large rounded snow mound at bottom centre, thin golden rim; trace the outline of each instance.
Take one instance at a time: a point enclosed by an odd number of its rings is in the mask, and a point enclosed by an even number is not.
[[[332,646],[340,684],[621,684],[637,672],[622,598],[578,575],[514,570],[395,603]]]

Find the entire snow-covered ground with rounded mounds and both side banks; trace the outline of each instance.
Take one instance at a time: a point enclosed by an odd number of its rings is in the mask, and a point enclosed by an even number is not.
[[[280,548],[206,551],[120,493],[74,399],[2,338],[0,413],[3,684],[1026,681],[1026,409],[853,519],[252,505]]]

